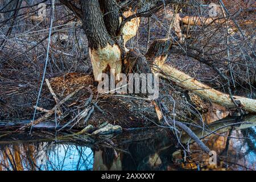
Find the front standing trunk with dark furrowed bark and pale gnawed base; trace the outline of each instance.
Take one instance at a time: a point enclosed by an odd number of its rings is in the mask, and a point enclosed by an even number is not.
[[[98,0],[81,1],[81,6],[82,24],[88,38],[89,55],[92,61],[94,79],[101,81],[101,78],[98,78],[98,76],[110,69],[115,69],[115,73],[117,74],[121,73],[121,48],[110,37],[105,26],[105,23],[107,24],[108,22],[104,22],[100,3]],[[110,32],[114,34],[111,27],[110,29]]]

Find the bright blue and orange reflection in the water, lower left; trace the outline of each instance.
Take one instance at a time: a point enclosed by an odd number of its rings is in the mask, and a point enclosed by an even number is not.
[[[54,142],[19,143],[0,146],[0,170],[92,170],[89,147]]]

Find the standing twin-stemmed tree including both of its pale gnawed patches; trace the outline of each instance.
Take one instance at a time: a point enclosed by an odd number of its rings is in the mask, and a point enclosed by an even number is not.
[[[122,29],[122,36],[117,35],[122,17],[117,2],[113,0],[81,1],[82,23],[89,43],[89,56],[92,62],[95,81],[101,81],[101,73],[114,69],[115,75],[122,71],[122,59],[125,44],[138,31],[140,18],[127,22]],[[125,11],[123,16],[130,16],[136,11]]]

